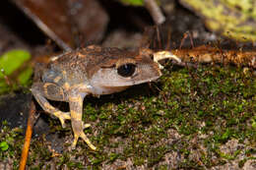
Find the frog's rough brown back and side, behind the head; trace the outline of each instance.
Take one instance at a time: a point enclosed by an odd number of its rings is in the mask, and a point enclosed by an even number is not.
[[[67,82],[69,85],[89,82],[98,69],[113,67],[120,58],[135,56],[135,52],[91,45],[64,53],[55,60],[53,58],[48,65],[48,71],[44,73],[44,81],[50,82],[61,76],[61,83]]]

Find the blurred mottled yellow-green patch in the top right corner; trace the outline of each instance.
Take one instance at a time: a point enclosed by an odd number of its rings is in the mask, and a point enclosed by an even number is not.
[[[241,41],[256,40],[255,0],[179,0],[205,19],[208,28]]]

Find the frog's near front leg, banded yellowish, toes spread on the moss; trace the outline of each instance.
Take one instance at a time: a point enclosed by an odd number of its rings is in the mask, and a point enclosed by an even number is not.
[[[74,142],[72,143],[72,148],[75,148],[78,139],[82,138],[93,150],[95,150],[96,146],[92,142],[90,142],[90,140],[84,133],[84,128],[89,126],[89,124],[84,125],[82,121],[84,97],[85,94],[83,95],[77,92],[73,93],[69,97],[71,124],[74,132]]]

